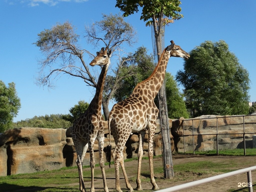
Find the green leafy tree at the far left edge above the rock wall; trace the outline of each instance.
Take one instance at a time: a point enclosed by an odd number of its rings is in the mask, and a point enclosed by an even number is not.
[[[13,118],[17,116],[20,109],[20,99],[18,98],[15,83],[8,83],[6,87],[0,80],[0,132],[10,129]]]

